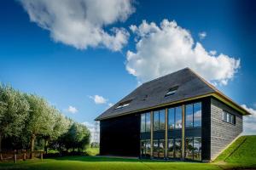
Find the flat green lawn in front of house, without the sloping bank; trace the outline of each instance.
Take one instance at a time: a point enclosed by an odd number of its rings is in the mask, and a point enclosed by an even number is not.
[[[106,158],[97,156],[67,156],[56,159],[44,159],[19,161],[17,164],[13,163],[0,163],[0,169],[102,169],[102,170],[135,170],[135,169],[216,169],[219,167],[207,163],[194,163],[194,162],[163,162],[163,161],[140,161],[137,159],[123,159],[123,158]]]

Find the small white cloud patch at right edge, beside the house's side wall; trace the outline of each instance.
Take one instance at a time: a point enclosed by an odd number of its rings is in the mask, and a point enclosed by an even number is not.
[[[256,134],[256,110],[247,107],[247,105],[241,105],[252,115],[243,116],[243,133],[244,134]]]

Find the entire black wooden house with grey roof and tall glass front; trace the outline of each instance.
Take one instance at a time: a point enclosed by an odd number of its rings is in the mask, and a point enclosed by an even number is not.
[[[143,83],[96,118],[100,154],[210,161],[249,114],[185,68]]]

